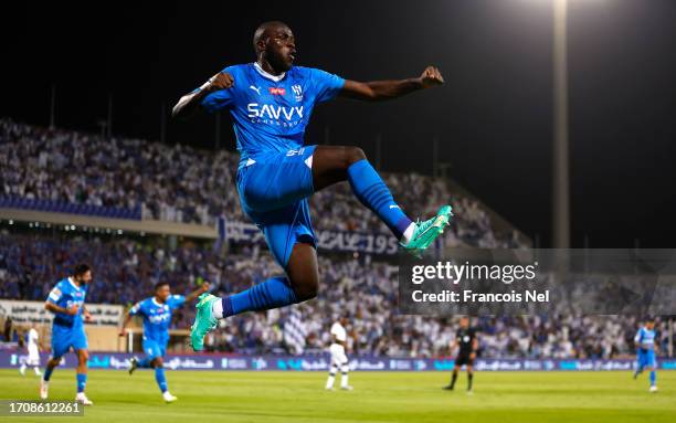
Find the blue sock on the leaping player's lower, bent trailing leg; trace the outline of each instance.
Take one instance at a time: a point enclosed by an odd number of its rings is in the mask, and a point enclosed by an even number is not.
[[[223,297],[223,317],[244,311],[268,310],[298,303],[286,277],[272,277],[241,293]]]

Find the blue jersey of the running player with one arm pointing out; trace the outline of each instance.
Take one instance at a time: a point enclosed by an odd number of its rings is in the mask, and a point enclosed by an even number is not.
[[[171,314],[186,303],[183,295],[170,295],[166,303],[158,303],[155,297],[136,303],[129,315],[144,317],[144,339],[166,341],[169,339]]]

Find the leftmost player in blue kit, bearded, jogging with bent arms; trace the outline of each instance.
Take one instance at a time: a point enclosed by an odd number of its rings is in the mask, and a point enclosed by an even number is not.
[[[71,350],[77,355],[77,395],[75,400],[83,405],[93,405],[84,393],[87,383],[87,336],[84,331],[84,320],[92,316],[85,308],[87,284],[92,282],[92,269],[86,264],[78,264],[73,275],[60,281],[50,292],[44,308],[54,314],[52,321],[52,357],[47,361],[40,382],[40,398],[49,396],[50,378],[61,358]]]

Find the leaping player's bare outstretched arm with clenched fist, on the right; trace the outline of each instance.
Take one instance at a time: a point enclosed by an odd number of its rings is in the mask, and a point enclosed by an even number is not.
[[[381,102],[413,93],[414,91],[442,85],[444,77],[439,68],[427,66],[420,77],[398,81],[346,81],[341,97],[361,99],[366,102]]]

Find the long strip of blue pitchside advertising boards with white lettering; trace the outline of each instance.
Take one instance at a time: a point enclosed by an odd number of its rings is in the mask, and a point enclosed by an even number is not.
[[[92,352],[91,369],[122,370],[129,367],[134,355]],[[19,368],[28,359],[25,353],[0,351],[0,369]],[[41,363],[47,355],[41,355]],[[73,369],[77,366],[74,355],[66,355],[62,367]],[[411,358],[350,358],[350,369],[357,371],[450,371],[452,359],[411,359]],[[634,369],[635,360],[527,360],[527,359],[477,359],[478,371],[609,371]],[[658,360],[658,369],[676,370],[676,359]],[[165,368],[171,370],[286,370],[286,371],[328,371],[329,356],[223,356],[223,355],[169,355]]]

